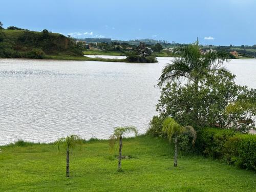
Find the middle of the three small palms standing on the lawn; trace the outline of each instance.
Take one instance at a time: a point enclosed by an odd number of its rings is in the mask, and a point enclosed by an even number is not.
[[[135,136],[138,135],[138,131],[135,126],[120,126],[114,128],[114,133],[110,136],[110,146],[113,148],[115,141],[119,140],[119,156],[118,156],[118,171],[121,170],[121,159],[122,159],[122,137],[124,134],[134,133]]]

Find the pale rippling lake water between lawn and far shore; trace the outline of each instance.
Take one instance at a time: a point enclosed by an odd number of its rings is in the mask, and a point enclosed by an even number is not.
[[[18,139],[53,142],[70,134],[106,139],[120,125],[134,125],[145,133],[157,114],[157,79],[171,59],[159,57],[159,63],[0,59],[0,145]],[[237,75],[237,83],[256,88],[255,59],[232,60],[226,67]]]

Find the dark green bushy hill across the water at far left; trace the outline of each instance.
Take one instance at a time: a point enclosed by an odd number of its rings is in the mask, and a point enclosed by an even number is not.
[[[0,57],[43,58],[44,55],[82,56],[72,38],[47,30],[0,30]]]

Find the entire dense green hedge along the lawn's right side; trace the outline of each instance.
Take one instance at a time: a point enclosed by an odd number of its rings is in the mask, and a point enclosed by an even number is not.
[[[198,132],[196,148],[206,157],[223,159],[228,164],[256,170],[256,135],[205,128]]]

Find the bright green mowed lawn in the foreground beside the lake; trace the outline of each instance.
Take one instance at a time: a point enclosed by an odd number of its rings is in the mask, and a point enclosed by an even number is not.
[[[255,191],[256,175],[199,156],[179,156],[166,140],[140,136],[123,140],[123,172],[117,172],[106,140],[88,141],[70,156],[53,144],[0,147],[0,191]]]

